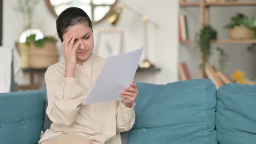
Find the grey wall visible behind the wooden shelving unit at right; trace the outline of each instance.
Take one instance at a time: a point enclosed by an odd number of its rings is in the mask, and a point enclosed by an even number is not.
[[[210,7],[210,24],[217,29],[220,39],[228,39],[228,29],[224,29],[230,18],[237,12],[252,16],[256,13],[255,6],[241,7]],[[194,39],[195,32],[200,29],[200,11],[199,7],[183,7],[180,13],[187,16],[188,33],[191,39]],[[249,79],[256,79],[256,53],[248,52],[247,46],[250,44],[214,44],[220,46],[229,54],[229,61],[224,73],[231,78],[231,74],[240,69],[245,72],[245,76]],[[218,68],[217,53],[210,58],[210,64]],[[195,49],[194,43],[180,44],[179,62],[187,62],[192,78],[199,78],[199,50]]]

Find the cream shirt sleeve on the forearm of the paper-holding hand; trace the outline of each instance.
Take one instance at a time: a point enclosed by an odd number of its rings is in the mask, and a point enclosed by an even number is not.
[[[129,131],[135,123],[135,102],[131,108],[127,108],[122,101],[118,101],[116,109],[116,131],[117,133]]]

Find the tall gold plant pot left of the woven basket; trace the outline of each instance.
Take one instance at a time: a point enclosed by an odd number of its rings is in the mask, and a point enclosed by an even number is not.
[[[30,68],[30,47],[26,43],[15,43],[16,48],[20,54],[21,59],[21,68],[28,69]]]

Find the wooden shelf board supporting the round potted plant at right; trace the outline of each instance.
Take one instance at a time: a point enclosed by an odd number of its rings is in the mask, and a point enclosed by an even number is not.
[[[180,41],[180,43],[194,43],[194,39]],[[256,43],[256,39],[218,39],[215,43]]]

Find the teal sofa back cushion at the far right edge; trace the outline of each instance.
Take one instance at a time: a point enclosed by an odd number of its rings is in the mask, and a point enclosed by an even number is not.
[[[256,85],[223,85],[217,97],[220,144],[256,144]]]

